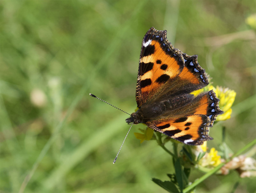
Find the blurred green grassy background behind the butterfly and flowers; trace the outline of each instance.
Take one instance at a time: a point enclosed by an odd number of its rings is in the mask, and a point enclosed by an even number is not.
[[[213,86],[237,93],[221,127],[233,152],[255,138],[255,1],[0,2],[1,192],[165,192],[172,158],[156,141],[128,135],[141,42],[154,26],[198,61]],[[218,149],[218,148],[217,148]],[[196,169],[191,181],[203,175]],[[211,176],[197,192],[254,192],[252,179]],[[23,182],[23,183],[22,183]],[[255,182],[255,179],[254,179]]]

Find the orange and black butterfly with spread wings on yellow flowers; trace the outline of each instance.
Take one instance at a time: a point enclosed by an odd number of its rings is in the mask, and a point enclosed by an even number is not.
[[[209,84],[197,55],[174,48],[166,30],[150,28],[143,38],[136,86],[138,110],[125,121],[144,123],[187,145],[202,145],[217,115],[222,114],[213,90],[194,96]]]

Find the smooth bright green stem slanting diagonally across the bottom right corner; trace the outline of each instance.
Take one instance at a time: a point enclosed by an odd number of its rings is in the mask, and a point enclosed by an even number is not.
[[[252,147],[253,145],[256,144],[256,139],[254,139],[252,142],[248,143],[246,146],[244,146],[243,148],[241,148],[240,150],[238,150],[236,152],[236,154],[234,154],[233,156],[231,156],[229,159],[227,159],[224,163],[221,163],[220,165],[218,165],[216,168],[212,169],[211,171],[209,171],[208,173],[204,174],[201,178],[197,179],[195,182],[193,182],[191,185],[189,185],[187,188],[183,189],[183,193],[188,192],[189,190],[193,189],[194,187],[196,187],[199,183],[203,182],[206,178],[208,178],[209,176],[211,176],[212,174],[214,174],[215,172],[217,172],[220,168],[222,168],[226,163],[228,163],[229,161],[231,161],[234,157],[242,154],[246,149]]]

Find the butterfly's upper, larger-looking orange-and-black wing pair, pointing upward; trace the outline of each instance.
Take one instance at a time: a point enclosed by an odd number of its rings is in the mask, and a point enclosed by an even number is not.
[[[138,107],[156,96],[183,90],[189,93],[207,84],[207,76],[197,62],[197,55],[188,56],[173,48],[166,39],[166,31],[157,31],[153,27],[148,30],[140,52],[136,87]]]

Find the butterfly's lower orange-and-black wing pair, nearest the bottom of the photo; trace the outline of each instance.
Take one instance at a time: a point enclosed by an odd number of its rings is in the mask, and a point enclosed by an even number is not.
[[[204,141],[212,139],[208,135],[209,127],[212,127],[216,116],[223,113],[218,102],[219,99],[211,90],[176,109],[171,115],[166,112],[146,125],[185,144],[202,145]]]

